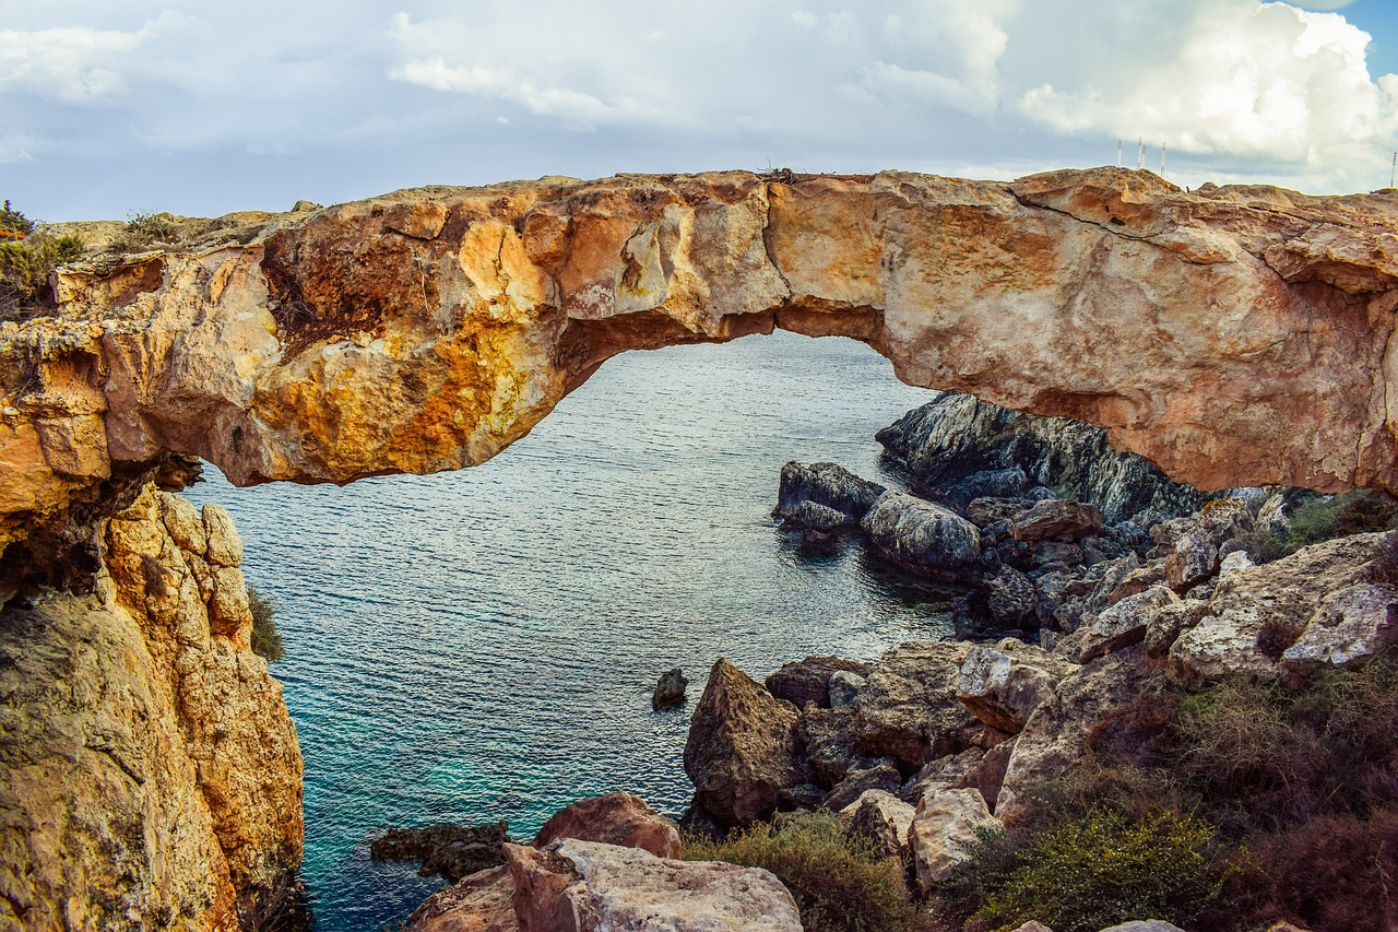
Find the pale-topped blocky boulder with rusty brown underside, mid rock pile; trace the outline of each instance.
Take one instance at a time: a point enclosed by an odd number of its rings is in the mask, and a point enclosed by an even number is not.
[[[980,644],[962,661],[956,698],[986,725],[1016,735],[1071,672],[1061,658],[1012,638]]]

